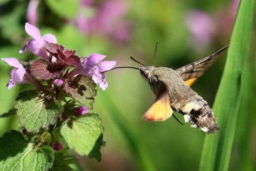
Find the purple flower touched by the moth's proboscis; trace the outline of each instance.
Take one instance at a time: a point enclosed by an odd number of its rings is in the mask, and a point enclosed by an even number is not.
[[[106,56],[93,53],[81,63],[81,66],[75,68],[67,76],[72,77],[76,74],[88,75],[92,77],[100,88],[105,90],[108,87],[104,71],[108,71],[116,66],[116,61],[102,61]],[[101,62],[102,61],[102,62]],[[99,64],[99,65],[97,65]]]

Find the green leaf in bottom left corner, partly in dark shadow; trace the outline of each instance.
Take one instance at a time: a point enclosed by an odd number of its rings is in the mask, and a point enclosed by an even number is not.
[[[14,130],[0,138],[0,151],[0,171],[48,171],[54,161],[51,147],[38,149]]]

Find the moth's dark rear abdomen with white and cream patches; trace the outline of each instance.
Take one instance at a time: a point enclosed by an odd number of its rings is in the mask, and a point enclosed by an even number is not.
[[[219,130],[213,111],[207,102],[198,95],[182,105],[177,111],[184,114],[185,122],[190,122],[191,127],[197,127],[208,134]]]

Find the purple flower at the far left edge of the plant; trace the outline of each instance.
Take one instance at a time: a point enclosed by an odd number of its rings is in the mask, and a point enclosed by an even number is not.
[[[30,77],[28,77],[26,69],[20,64],[16,58],[2,58],[9,66],[14,67],[10,73],[11,79],[9,80],[7,87],[12,89],[15,83],[26,84],[31,83]]]

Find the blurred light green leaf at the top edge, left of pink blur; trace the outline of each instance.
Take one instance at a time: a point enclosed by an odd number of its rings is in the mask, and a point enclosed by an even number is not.
[[[47,0],[50,7],[57,15],[75,19],[78,13],[78,0]]]

